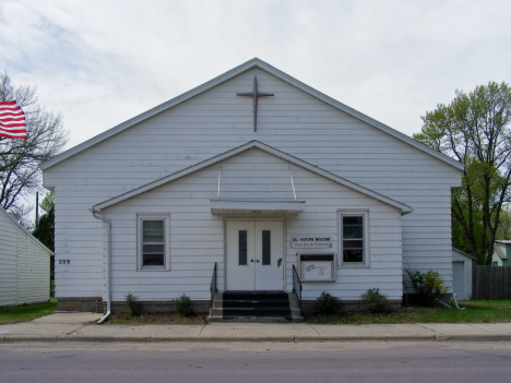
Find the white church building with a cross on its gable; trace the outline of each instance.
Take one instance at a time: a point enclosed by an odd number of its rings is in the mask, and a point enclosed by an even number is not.
[[[60,310],[115,312],[127,294],[168,310],[187,295],[250,316],[223,297],[356,303],[370,288],[400,304],[405,267],[452,285],[463,165],[259,59],[41,168]]]

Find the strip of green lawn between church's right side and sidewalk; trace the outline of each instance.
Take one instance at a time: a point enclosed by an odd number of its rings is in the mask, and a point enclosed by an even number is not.
[[[461,302],[464,310],[448,308],[403,309],[392,314],[345,314],[309,318],[309,323],[324,324],[370,324],[370,323],[502,323],[511,322],[509,301]],[[492,302],[492,303],[489,303]]]

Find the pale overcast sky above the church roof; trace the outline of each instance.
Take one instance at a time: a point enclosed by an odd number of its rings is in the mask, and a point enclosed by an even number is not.
[[[0,70],[72,147],[258,57],[405,134],[510,82],[511,1],[2,0]]]

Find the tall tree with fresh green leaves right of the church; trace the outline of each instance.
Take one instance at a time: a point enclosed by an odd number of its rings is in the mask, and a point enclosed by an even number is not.
[[[489,82],[468,94],[456,91],[450,105],[426,112],[420,133],[414,134],[465,165],[462,188],[452,194],[453,236],[460,235],[453,242],[488,265],[510,195],[510,119],[509,85]]]

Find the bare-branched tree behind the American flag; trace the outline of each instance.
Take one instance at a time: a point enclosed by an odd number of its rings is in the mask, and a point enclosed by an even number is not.
[[[68,141],[62,117],[45,111],[35,86],[16,86],[0,74],[0,101],[16,100],[25,113],[26,140],[0,137],[0,206],[20,215],[19,200],[40,185],[40,163],[57,155]]]

